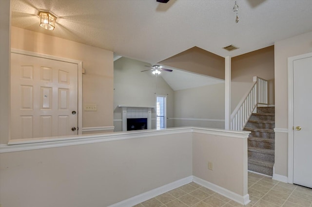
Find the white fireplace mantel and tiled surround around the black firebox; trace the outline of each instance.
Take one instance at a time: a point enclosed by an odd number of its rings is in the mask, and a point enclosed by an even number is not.
[[[150,105],[118,105],[122,108],[122,131],[127,131],[127,118],[147,118],[147,129],[152,129],[152,108]]]

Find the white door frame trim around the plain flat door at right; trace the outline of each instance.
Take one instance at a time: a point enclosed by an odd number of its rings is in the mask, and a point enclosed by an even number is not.
[[[288,58],[288,182],[293,183],[293,61],[312,57],[312,52]]]

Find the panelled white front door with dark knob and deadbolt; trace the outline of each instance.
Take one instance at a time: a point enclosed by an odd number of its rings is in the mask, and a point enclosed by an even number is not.
[[[78,65],[11,53],[11,139],[77,135],[77,128]]]

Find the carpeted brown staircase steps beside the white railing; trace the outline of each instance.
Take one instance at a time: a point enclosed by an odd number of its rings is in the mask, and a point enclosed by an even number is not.
[[[244,130],[248,138],[248,170],[273,175],[275,107],[257,107]]]

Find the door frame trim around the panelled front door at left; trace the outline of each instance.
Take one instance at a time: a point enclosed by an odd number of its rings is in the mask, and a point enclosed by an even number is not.
[[[78,129],[79,129],[78,135],[81,135],[82,134],[82,61],[69,59],[69,58],[63,58],[63,57],[49,55],[49,54],[43,54],[39,52],[30,52],[30,51],[24,51],[24,50],[19,50],[19,49],[13,49],[13,48],[11,49],[10,53],[17,53],[17,54],[34,56],[34,57],[46,58],[50,60],[57,60],[57,61],[66,62],[66,63],[77,64],[78,66],[78,87],[77,87],[78,88]]]

